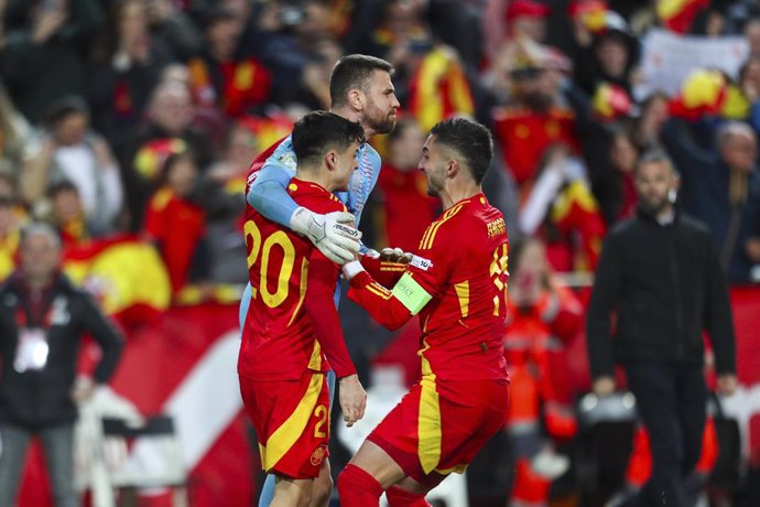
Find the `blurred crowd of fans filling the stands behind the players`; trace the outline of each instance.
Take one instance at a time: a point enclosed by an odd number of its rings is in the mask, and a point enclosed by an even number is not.
[[[0,278],[20,228],[47,222],[66,271],[127,327],[239,299],[249,164],[329,107],[348,53],[393,64],[402,104],[373,141],[368,246],[413,250],[437,216],[416,171],[427,129],[467,115],[493,132],[485,191],[513,244],[504,346],[523,400],[512,447],[530,424],[560,449],[577,436],[584,384],[568,379],[584,367],[567,350],[605,235],[636,211],[641,153],[672,158],[678,207],[707,225],[729,282],[760,282],[760,1],[0,0]],[[341,313],[365,378],[401,364],[414,380],[413,327]],[[566,470],[552,454],[543,476],[514,462],[470,474],[474,505],[542,505]]]

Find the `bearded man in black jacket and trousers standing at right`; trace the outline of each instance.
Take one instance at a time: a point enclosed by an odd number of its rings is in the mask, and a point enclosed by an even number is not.
[[[707,228],[676,213],[677,185],[664,153],[639,161],[639,212],[608,235],[587,315],[594,391],[611,393],[614,363],[622,364],[649,432],[645,506],[691,505],[684,478],[699,457],[706,410],[703,328],[715,350],[718,390],[731,393],[737,384],[724,271]]]

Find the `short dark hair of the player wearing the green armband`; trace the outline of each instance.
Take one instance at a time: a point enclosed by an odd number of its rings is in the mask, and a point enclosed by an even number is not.
[[[467,118],[449,118],[433,127],[435,142],[456,150],[475,182],[482,183],[493,159],[493,138],[482,125]]]

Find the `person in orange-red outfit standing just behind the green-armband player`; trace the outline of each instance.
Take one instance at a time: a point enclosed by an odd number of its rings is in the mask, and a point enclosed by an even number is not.
[[[510,249],[504,356],[511,401],[507,432],[515,455],[513,505],[546,505],[553,479],[568,466],[553,443],[577,431],[566,347],[583,326],[583,306],[553,279],[543,242]]]

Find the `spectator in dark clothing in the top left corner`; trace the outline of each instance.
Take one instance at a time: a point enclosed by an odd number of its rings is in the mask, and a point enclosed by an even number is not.
[[[0,73],[29,121],[42,121],[61,98],[85,93],[85,63],[102,20],[97,0],[9,2]]]

